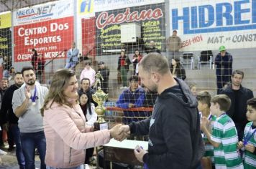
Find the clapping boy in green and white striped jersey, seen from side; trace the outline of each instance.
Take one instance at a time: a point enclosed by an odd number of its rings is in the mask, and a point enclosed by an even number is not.
[[[209,132],[207,117],[201,119],[201,130],[206,134],[211,145],[214,145],[214,163],[216,169],[244,168],[237,150],[237,130],[233,120],[226,115],[231,105],[227,95],[216,95],[211,99],[211,114],[216,115],[212,133]]]

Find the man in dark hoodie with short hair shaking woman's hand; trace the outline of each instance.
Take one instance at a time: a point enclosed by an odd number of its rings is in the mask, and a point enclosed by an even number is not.
[[[158,97],[151,117],[119,128],[126,135],[149,134],[148,150],[140,146],[134,150],[137,160],[150,169],[198,168],[204,145],[196,97],[182,79],[173,78],[168,60],[161,54],[143,57],[139,76]]]

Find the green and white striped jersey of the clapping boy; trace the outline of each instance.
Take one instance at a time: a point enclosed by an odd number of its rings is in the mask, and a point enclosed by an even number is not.
[[[211,140],[220,143],[218,148],[214,148],[216,169],[244,168],[237,149],[237,130],[233,120],[226,113],[216,118]]]

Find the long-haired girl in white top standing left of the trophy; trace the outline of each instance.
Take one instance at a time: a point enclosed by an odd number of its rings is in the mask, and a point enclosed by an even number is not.
[[[86,92],[83,92],[79,97],[80,107],[83,110],[83,115],[86,117],[86,125],[93,126],[93,123],[97,120],[97,114],[94,111],[95,107],[93,103],[91,103],[90,97]],[[86,160],[85,163],[89,164],[90,159],[93,156],[94,148],[87,148],[86,149]]]

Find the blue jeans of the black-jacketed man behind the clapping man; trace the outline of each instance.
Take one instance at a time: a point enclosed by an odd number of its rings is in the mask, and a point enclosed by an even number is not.
[[[16,145],[16,157],[19,163],[19,168],[24,169],[25,168],[25,159],[24,155],[22,153],[22,143],[20,141],[20,132],[19,127],[17,124],[11,124],[10,130],[12,132],[12,137],[14,138],[14,143]]]

